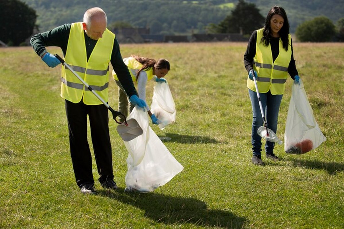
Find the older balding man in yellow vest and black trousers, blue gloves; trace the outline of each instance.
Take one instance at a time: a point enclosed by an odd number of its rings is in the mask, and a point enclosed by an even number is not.
[[[51,68],[60,61],[46,46],[62,49],[64,60],[97,93],[108,101],[109,62],[130,101],[140,107],[146,103],[137,96],[127,66],[123,63],[115,34],[107,28],[105,12],[88,9],[83,22],[64,24],[31,38],[37,55]],[[78,79],[62,66],[61,97],[65,99],[69,145],[76,183],[84,194],[96,193],[92,174],[92,157],[87,141],[87,115],[96,159],[99,182],[103,188],[117,189],[112,171],[108,109]]]

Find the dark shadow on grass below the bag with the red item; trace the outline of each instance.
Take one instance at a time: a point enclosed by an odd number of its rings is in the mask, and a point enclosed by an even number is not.
[[[309,161],[301,159],[291,160],[295,166],[306,167],[310,169],[323,169],[331,175],[336,175],[338,172],[344,171],[344,164],[337,162],[323,162],[323,161]]]

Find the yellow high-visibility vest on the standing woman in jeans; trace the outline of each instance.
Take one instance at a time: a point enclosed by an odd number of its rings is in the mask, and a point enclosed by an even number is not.
[[[253,69],[257,72],[257,85],[260,93],[266,93],[269,90],[272,95],[282,95],[286,88],[288,76],[288,67],[291,58],[291,40],[288,35],[289,47],[288,51],[283,48],[280,38],[279,55],[275,62],[272,62],[271,46],[265,46],[261,42],[263,30],[257,30],[256,55],[253,59]],[[253,80],[247,77],[247,87],[252,91],[256,91]]]

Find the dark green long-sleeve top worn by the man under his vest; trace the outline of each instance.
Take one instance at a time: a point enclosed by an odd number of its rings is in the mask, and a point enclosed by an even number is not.
[[[46,46],[57,46],[62,49],[63,55],[66,55],[69,32],[71,31],[71,24],[64,24],[58,26],[50,31],[39,33],[32,36],[30,43],[37,55],[42,57],[42,55],[47,52]],[[93,40],[87,36],[84,31],[85,45],[86,45],[86,55],[87,60],[89,59],[97,40]],[[111,60],[112,68],[115,70],[118,80],[125,89],[127,95],[137,95],[136,89],[131,79],[127,65],[123,62],[121,52],[119,50],[119,44],[115,37],[114,46],[112,48]]]

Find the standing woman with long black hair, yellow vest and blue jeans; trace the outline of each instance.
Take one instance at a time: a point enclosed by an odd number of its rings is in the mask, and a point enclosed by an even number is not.
[[[266,17],[265,26],[252,33],[244,55],[244,63],[248,72],[247,87],[253,113],[252,163],[264,165],[261,159],[261,137],[257,133],[258,128],[263,124],[263,119],[253,77],[256,77],[257,80],[268,128],[275,133],[287,74],[289,73],[295,83],[299,83],[300,79],[293,57],[288,18],[282,7],[272,7]],[[280,160],[273,153],[274,146],[275,143],[266,142],[266,158]]]

